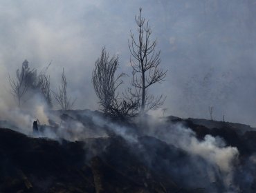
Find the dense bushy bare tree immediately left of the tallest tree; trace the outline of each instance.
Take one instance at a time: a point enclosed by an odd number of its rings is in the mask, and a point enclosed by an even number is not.
[[[125,75],[121,73],[118,77],[115,76],[118,66],[118,56],[109,58],[109,54],[103,47],[100,58],[95,61],[92,73],[93,88],[104,114],[131,116],[136,109],[136,102],[131,99],[120,99],[118,96],[117,89],[123,83],[121,77]]]

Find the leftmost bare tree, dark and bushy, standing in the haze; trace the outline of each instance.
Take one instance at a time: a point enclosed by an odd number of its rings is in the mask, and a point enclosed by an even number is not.
[[[31,85],[34,85],[34,77],[36,76],[36,73],[36,70],[30,70],[30,68],[28,68],[28,61],[25,60],[22,63],[21,71],[19,71],[19,69],[16,71],[16,80],[9,75],[11,93],[15,99],[17,99],[19,107],[21,106],[21,99],[28,91],[28,88],[30,88]]]

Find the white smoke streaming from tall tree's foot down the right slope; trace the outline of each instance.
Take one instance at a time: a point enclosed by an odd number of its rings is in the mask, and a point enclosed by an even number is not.
[[[205,135],[204,139],[199,141],[190,128],[185,127],[182,123],[166,123],[163,117],[155,116],[157,114],[158,112],[151,119],[147,119],[148,130],[145,130],[145,134],[161,139],[176,148],[181,148],[188,154],[201,156],[208,163],[217,167],[216,170],[223,177],[227,191],[238,190],[233,182],[234,167],[239,156],[236,147],[226,146],[225,141],[218,136]],[[207,176],[212,182],[216,179],[211,171],[208,171]]]

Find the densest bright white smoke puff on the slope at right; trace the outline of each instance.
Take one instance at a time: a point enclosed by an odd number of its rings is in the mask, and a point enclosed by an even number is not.
[[[218,165],[223,172],[232,171],[232,163],[239,155],[237,148],[226,147],[222,139],[210,135],[205,135],[203,141],[199,141],[192,130],[184,128],[181,124],[170,125],[169,130],[156,136],[177,148],[207,159],[210,163]]]

